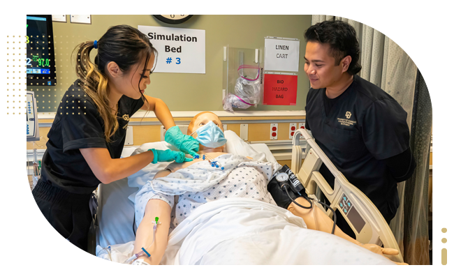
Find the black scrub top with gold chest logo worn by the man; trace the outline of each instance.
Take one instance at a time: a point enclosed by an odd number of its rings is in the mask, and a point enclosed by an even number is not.
[[[328,114],[323,103],[325,91],[309,90],[306,128],[346,179],[363,191],[383,216],[394,216],[399,206],[397,182],[384,159],[409,148],[407,112],[388,93],[358,75]]]

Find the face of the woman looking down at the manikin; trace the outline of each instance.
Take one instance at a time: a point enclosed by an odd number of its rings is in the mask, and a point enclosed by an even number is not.
[[[110,70],[111,77],[109,82],[112,83],[112,85],[115,86],[115,89],[117,89],[120,93],[128,96],[129,98],[138,100],[142,94],[145,93],[145,89],[147,89],[147,85],[149,84],[149,75],[151,74],[151,70],[154,66],[154,54],[150,56],[145,72],[143,71],[144,66],[145,59],[143,59],[142,62],[131,66],[129,71],[126,73],[119,70],[117,75],[113,73],[112,76],[112,70]],[[142,78],[142,80],[140,80],[140,78]]]

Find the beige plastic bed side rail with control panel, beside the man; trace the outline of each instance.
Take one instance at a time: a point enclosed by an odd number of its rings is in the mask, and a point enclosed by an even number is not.
[[[300,147],[300,135],[304,137],[306,142],[304,151]],[[305,159],[304,163],[301,163],[303,158]],[[345,176],[337,170],[307,130],[298,129],[295,131],[291,162],[291,170],[305,186],[307,195],[317,198],[317,190],[321,190],[330,201],[332,209],[337,209],[342,213],[355,233],[356,240],[360,243],[372,243],[378,246],[383,244],[385,248],[399,250],[399,255],[388,256],[388,258],[394,262],[404,262],[394,234],[386,220],[381,216],[380,211],[363,192],[349,183]],[[322,163],[335,176],[334,189],[318,172]],[[321,204],[315,204],[332,218],[332,211],[327,212]]]

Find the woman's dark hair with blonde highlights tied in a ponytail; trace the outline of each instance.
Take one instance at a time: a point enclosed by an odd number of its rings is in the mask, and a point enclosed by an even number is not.
[[[93,40],[81,43],[75,48],[75,50],[78,50],[75,72],[81,81],[80,86],[94,101],[99,114],[101,114],[104,121],[104,137],[106,142],[110,142],[110,137],[118,129],[118,121],[110,112],[107,91],[108,76],[104,73],[105,66],[113,61],[126,73],[131,69],[131,66],[145,59],[143,68],[145,73],[150,57],[154,54],[156,61],[158,52],[144,33],[129,25],[110,27],[98,40],[97,45],[98,54],[94,63],[90,61],[90,52],[94,49]],[[156,68],[156,62],[154,67]],[[142,77],[139,80],[139,90],[141,80]],[[142,100],[147,102],[143,94]]]

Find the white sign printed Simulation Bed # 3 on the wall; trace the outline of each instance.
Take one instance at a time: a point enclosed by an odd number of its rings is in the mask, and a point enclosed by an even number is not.
[[[139,25],[158,51],[156,73],[205,74],[205,30]]]

